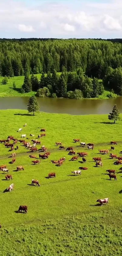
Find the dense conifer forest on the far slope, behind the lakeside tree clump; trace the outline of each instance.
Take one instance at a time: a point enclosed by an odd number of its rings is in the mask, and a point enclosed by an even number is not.
[[[30,74],[62,72],[64,69],[74,73],[81,68],[86,77],[103,79],[104,85],[122,95],[122,45],[119,42],[95,39],[0,41],[0,52],[2,76],[25,75],[27,71]]]

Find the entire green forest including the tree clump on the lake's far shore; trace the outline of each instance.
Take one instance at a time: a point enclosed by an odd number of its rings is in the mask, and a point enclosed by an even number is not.
[[[25,75],[21,92],[96,98],[106,87],[110,97],[122,95],[122,45],[116,39],[0,40],[0,53],[1,76]],[[40,73],[37,81],[33,74]]]

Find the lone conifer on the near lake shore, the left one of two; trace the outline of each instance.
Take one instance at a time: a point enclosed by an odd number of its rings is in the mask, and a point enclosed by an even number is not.
[[[39,104],[34,95],[30,97],[28,100],[27,110],[29,113],[33,113],[33,116],[35,115],[35,112],[39,112]]]

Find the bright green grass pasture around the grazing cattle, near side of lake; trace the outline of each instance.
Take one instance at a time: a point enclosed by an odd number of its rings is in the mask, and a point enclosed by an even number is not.
[[[26,134],[31,141],[30,133],[36,138],[40,128],[45,128],[46,137],[41,139],[41,145],[51,152],[47,160],[34,166],[28,150],[18,142],[19,150],[13,151],[16,162],[9,164],[11,152],[0,144],[0,165],[7,164],[13,178],[6,181],[0,171],[0,255],[121,256],[122,171],[120,166],[113,165],[115,160],[110,159],[109,154],[101,155],[102,168],[96,168],[92,158],[100,156],[98,149],[110,150],[111,140],[121,141],[122,121],[111,124],[107,115],[41,113],[33,117],[23,110],[1,110],[0,117],[0,139],[8,135],[19,139],[21,134]],[[25,123],[27,126],[23,127]],[[18,128],[22,128],[22,132],[18,133]],[[74,138],[96,144],[94,150],[81,148],[80,143],[73,142]],[[70,161],[68,152],[54,146],[56,141],[65,147],[73,146],[76,154],[88,152],[86,163],[82,164],[80,157]],[[118,156],[121,144],[115,146],[114,153]],[[37,158],[38,153],[34,153]],[[61,167],[51,163],[60,157],[66,157]],[[24,171],[16,172],[18,165],[22,165]],[[88,170],[75,177],[71,171],[80,166]],[[109,180],[107,169],[116,170],[117,181]],[[56,178],[47,179],[50,172],[55,172]],[[41,186],[31,186],[32,178],[38,179]],[[12,182],[14,190],[3,193]],[[109,198],[109,204],[99,207],[97,199],[105,197]],[[28,206],[27,214],[16,213],[21,204]]]

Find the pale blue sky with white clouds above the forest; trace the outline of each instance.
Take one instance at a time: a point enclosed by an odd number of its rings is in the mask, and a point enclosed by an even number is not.
[[[122,38],[122,0],[0,0],[1,38]]]

